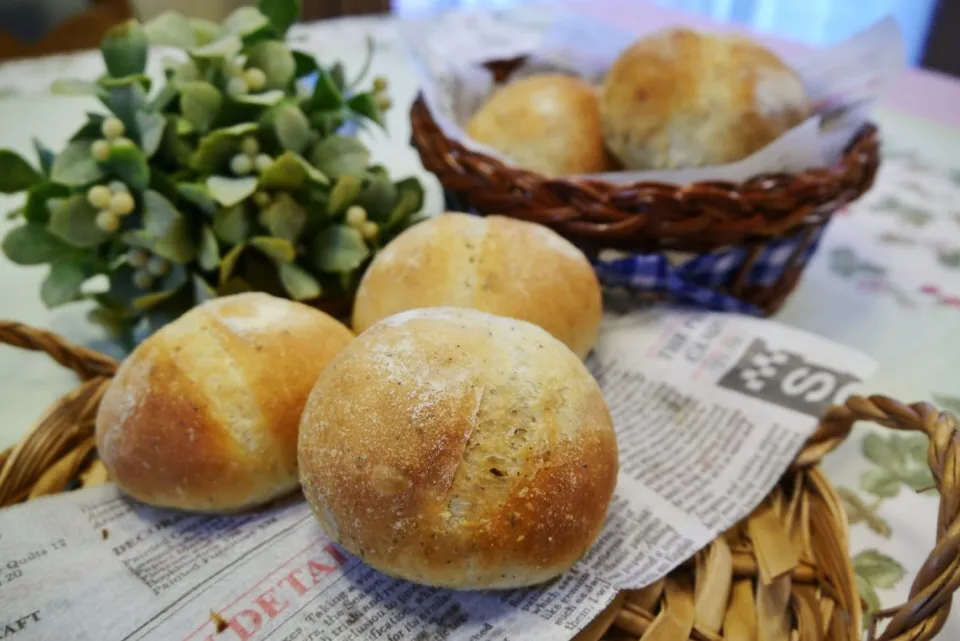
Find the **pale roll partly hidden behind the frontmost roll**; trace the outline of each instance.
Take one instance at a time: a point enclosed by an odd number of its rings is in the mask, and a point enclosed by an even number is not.
[[[539,325],[583,358],[600,330],[602,297],[586,256],[553,230],[451,212],[408,228],[374,257],[353,329],[418,307],[471,307]]]

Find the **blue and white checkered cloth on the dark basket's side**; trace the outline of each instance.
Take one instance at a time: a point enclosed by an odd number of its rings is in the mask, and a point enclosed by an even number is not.
[[[447,205],[455,211],[476,213],[449,193]],[[798,257],[799,264],[805,265],[814,254],[822,234],[823,227],[820,227]],[[776,283],[784,275],[790,256],[802,242],[800,236],[770,241],[750,268],[744,285],[764,287]],[[606,261],[591,258],[597,277],[605,287],[664,295],[674,304],[699,309],[763,316],[756,305],[718,291],[733,280],[744,260],[744,248],[692,256],[677,265],[671,265],[662,253],[633,254]]]

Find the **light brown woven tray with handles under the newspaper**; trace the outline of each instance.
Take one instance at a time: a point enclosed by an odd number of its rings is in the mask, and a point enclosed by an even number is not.
[[[46,352],[83,383],[14,448],[0,454],[0,507],[108,481],[93,423],[117,368],[112,359],[49,332],[0,322],[0,341]],[[900,607],[871,617],[870,638],[928,641],[960,585],[960,435],[952,415],[926,403],[851,397],[830,409],[791,468],[749,517],[664,580],[622,592],[577,641],[855,641],[863,614],[847,552],[847,520],[819,469],[856,421],[930,438],[941,503],[937,545]],[[874,628],[888,623],[879,636]]]

